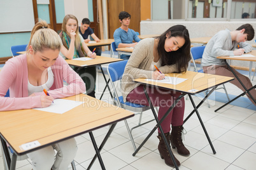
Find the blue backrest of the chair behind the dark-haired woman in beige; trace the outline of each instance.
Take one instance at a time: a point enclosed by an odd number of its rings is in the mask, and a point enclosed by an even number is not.
[[[120,62],[110,63],[108,65],[108,75],[110,75],[110,80],[112,82],[122,79],[127,62],[128,60],[122,60]]]

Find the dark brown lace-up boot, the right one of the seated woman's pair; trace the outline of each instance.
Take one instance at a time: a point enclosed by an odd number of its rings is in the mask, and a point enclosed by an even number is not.
[[[180,155],[188,156],[190,155],[189,150],[183,145],[181,139],[181,133],[183,131],[183,126],[171,126],[171,146],[177,148],[177,152]]]

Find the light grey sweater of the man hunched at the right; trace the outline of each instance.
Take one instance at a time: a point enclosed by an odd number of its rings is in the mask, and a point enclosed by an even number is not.
[[[218,59],[217,56],[234,56],[233,51],[238,46],[245,49],[245,53],[252,51],[252,46],[246,42],[236,42],[231,39],[231,31],[228,29],[221,30],[213,36],[207,43],[203,58],[202,66],[225,65],[224,60]]]

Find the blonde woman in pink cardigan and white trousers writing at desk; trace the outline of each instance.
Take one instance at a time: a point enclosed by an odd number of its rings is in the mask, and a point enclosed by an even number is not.
[[[0,111],[48,107],[55,98],[85,91],[81,77],[59,56],[60,47],[60,37],[45,21],[34,25],[27,53],[8,60],[0,72]],[[64,87],[63,81],[69,85]],[[10,98],[4,97],[8,89]],[[75,138],[71,138],[27,155],[34,170],[68,169],[76,151]]]

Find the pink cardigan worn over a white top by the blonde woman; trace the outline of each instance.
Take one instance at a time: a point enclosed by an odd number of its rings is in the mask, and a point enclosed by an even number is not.
[[[50,96],[64,98],[85,92],[85,83],[81,77],[60,55],[51,69],[54,82],[48,91]],[[69,85],[63,87],[63,81],[68,82]],[[45,93],[42,91],[35,93],[36,96],[29,97],[27,83],[27,56],[19,55],[8,60],[0,72],[0,111],[41,107],[40,96]],[[10,89],[10,98],[4,97],[8,89]]]

